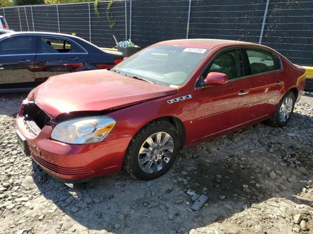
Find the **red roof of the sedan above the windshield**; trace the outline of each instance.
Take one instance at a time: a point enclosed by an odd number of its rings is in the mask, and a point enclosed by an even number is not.
[[[251,42],[237,41],[237,40],[223,40],[223,39],[178,39],[178,40],[165,40],[165,41],[158,42],[156,44],[196,47],[196,48],[209,49],[209,50],[222,44],[257,45]]]

